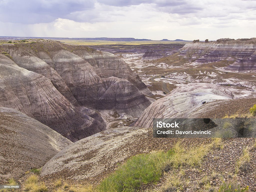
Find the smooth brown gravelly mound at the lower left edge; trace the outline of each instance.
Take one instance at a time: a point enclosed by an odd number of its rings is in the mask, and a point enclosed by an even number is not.
[[[11,108],[0,108],[0,183],[40,168],[72,142]]]

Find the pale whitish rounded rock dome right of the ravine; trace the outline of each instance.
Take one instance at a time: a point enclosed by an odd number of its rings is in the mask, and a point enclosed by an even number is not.
[[[152,103],[131,126],[152,127],[154,118],[189,118],[201,105],[223,99],[232,99],[232,92],[208,83],[190,83],[169,92]]]

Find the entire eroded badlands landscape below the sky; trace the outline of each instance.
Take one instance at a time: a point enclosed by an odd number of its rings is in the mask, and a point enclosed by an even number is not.
[[[256,190],[255,138],[152,133],[155,118],[255,119],[256,38],[87,41],[0,45],[0,184],[30,192]]]

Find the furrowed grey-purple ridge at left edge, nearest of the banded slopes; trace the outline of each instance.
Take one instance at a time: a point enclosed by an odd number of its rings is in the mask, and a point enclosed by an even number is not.
[[[0,55],[0,106],[14,108],[77,141],[105,129],[101,116],[74,106],[46,77]]]

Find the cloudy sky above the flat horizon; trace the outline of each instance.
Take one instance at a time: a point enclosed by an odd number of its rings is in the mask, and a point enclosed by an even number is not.
[[[255,0],[0,0],[0,36],[256,37]]]

